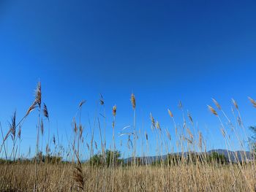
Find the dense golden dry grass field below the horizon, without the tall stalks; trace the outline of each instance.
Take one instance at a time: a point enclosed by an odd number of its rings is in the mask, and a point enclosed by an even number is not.
[[[255,166],[82,166],[83,191],[254,191]],[[33,191],[34,166],[1,165],[1,191]],[[38,191],[82,191],[72,165],[40,164]]]

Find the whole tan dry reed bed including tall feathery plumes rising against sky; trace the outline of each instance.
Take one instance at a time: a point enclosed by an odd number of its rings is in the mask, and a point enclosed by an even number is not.
[[[220,104],[213,99],[217,110],[208,106],[210,112],[217,116],[220,123],[220,131],[226,143],[226,148],[233,147],[234,142],[238,142],[243,149],[240,154],[228,153],[228,158],[233,155],[235,163],[228,163],[223,155],[213,157],[206,153],[206,140],[200,131],[195,131],[192,115],[184,112],[181,102],[179,107],[183,115],[182,126],[176,125],[173,113],[170,115],[170,123],[176,134],[170,135],[168,129],[163,129],[159,121],[150,114],[151,131],[155,134],[155,141],[149,141],[148,133],[143,132],[136,126],[136,102],[135,95],[131,96],[131,110],[134,115],[131,131],[125,130],[118,135],[127,137],[127,146],[132,151],[131,161],[124,161],[119,158],[116,151],[116,105],[112,109],[113,139],[110,141],[110,149],[106,147],[105,131],[105,101],[100,96],[99,104],[103,111],[103,120],[95,118],[97,124],[95,129],[99,131],[99,141],[95,141],[94,128],[91,138],[85,141],[83,136],[84,128],[81,125],[81,109],[86,101],[81,101],[78,112],[73,118],[72,140],[68,143],[66,150],[62,150],[56,141],[56,136],[51,136],[45,147],[45,152],[40,151],[40,139],[44,137],[45,121],[49,120],[48,108],[42,103],[41,84],[37,85],[35,100],[20,120],[16,120],[14,113],[10,128],[7,133],[3,133],[1,128],[2,142],[0,152],[2,154],[0,164],[0,189],[1,191],[255,191],[256,190],[256,166],[253,150],[251,161],[246,158],[239,159],[246,153],[244,136],[238,131],[245,130],[241,120],[238,104],[233,101],[233,115],[236,122],[232,122],[222,110]],[[249,98],[253,107],[256,102]],[[37,145],[34,158],[26,159],[20,156],[20,132],[24,120],[35,110],[38,112],[37,121]],[[221,114],[221,115],[220,115]],[[1,126],[1,125],[0,125]],[[108,128],[109,129],[109,128]],[[245,131],[243,132],[245,133]],[[232,134],[232,136],[230,136]],[[172,137],[176,138],[176,143],[172,143]],[[141,139],[143,138],[143,139]],[[12,147],[7,146],[7,140],[12,141]],[[50,142],[54,146],[50,149]],[[167,158],[160,158],[154,163],[146,158],[135,158],[141,147],[148,149],[148,142],[156,142],[159,151],[171,152],[170,146],[175,146],[179,155],[167,155]],[[99,146],[97,146],[99,145]],[[144,146],[143,146],[144,145]],[[85,146],[89,151],[90,161],[80,162]],[[112,147],[111,147],[112,146]],[[135,147],[136,146],[136,147]],[[249,145],[251,146],[251,145]],[[7,154],[6,150],[11,153]],[[57,150],[56,150],[57,149]],[[94,150],[98,153],[95,155]],[[185,155],[188,151],[189,155]],[[198,152],[198,153],[195,153]],[[199,153],[200,152],[200,153]],[[163,153],[159,153],[162,155]],[[246,155],[244,155],[246,156]],[[190,157],[190,158],[189,158]],[[61,161],[61,158],[71,161]]]

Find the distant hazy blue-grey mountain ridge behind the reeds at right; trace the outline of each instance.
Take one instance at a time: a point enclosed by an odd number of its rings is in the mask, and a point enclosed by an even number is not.
[[[252,161],[253,159],[255,159],[254,155],[252,153],[250,153],[249,151],[241,151],[241,150],[237,150],[237,151],[232,151],[232,150],[222,150],[222,149],[218,149],[218,150],[208,150],[206,152],[206,154],[210,155],[211,153],[219,153],[222,155],[225,155],[225,157],[227,158],[227,161],[232,162],[232,163],[236,163],[238,161]],[[197,155],[203,155],[203,153],[198,153],[198,152],[190,152],[190,153],[195,153]],[[187,155],[189,155],[189,152],[184,152],[184,153],[169,153],[171,155],[184,155],[184,157],[187,157]],[[159,161],[159,160],[165,160],[167,158],[167,155],[155,155],[155,156],[143,156],[143,157],[136,157],[136,158],[140,158],[141,161],[143,161],[146,164],[151,164],[155,161]],[[132,162],[133,161],[133,157],[129,157],[129,158],[125,158],[124,159],[124,163],[127,164],[128,162]]]

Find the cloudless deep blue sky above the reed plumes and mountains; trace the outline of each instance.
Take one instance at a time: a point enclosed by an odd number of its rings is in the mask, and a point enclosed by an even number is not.
[[[51,132],[58,125],[64,145],[82,99],[89,132],[88,116],[93,121],[99,93],[105,97],[110,139],[114,104],[116,134],[132,124],[133,92],[137,126],[149,137],[149,112],[174,134],[167,108],[182,124],[180,99],[209,148],[224,148],[219,122],[206,104],[214,97],[232,117],[234,98],[244,125],[256,124],[247,99],[256,99],[255,10],[255,1],[0,1],[4,131],[15,109],[18,118],[24,115],[40,80]],[[36,117],[34,112],[23,124],[24,153],[35,144]]]

